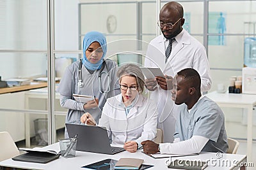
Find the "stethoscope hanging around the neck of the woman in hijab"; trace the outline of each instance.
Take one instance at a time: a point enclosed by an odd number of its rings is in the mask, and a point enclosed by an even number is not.
[[[104,67],[106,66],[106,69],[108,71],[108,66],[106,64],[106,61],[103,60],[102,62],[102,67],[100,68],[100,71],[99,71],[99,75],[98,75],[98,79],[99,79],[99,91],[100,93],[108,93],[110,91],[110,82],[109,82],[109,74],[106,72],[106,71],[103,71]],[[83,62],[82,62],[82,59],[80,59],[80,62],[79,62],[79,70],[78,70],[78,73],[79,73],[79,79],[78,79],[78,87],[81,88],[83,87],[83,80],[82,80],[82,67],[83,67]],[[102,83],[101,83],[101,76],[102,74],[106,74],[108,76],[108,89],[106,91],[104,91],[104,87],[101,87]]]

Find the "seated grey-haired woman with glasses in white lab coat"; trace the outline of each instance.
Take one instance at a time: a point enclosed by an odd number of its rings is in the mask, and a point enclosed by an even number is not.
[[[112,144],[136,152],[141,141],[156,138],[157,106],[141,95],[145,80],[140,67],[125,64],[118,69],[117,76],[121,94],[107,99],[98,125],[106,127]],[[90,113],[84,113],[81,122],[97,125]]]

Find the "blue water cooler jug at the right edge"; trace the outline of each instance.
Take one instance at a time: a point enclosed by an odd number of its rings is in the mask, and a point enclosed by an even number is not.
[[[256,38],[244,39],[244,65],[256,67]]]

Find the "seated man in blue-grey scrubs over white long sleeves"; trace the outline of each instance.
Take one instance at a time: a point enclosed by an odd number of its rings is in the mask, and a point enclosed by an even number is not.
[[[225,117],[220,107],[200,92],[201,79],[195,69],[179,71],[173,79],[172,100],[180,105],[173,143],[143,141],[145,153],[226,153]]]

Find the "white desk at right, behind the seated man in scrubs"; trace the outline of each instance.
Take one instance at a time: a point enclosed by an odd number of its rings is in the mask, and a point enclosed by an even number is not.
[[[205,96],[215,101],[220,107],[246,108],[247,115],[247,155],[248,161],[252,160],[252,111],[256,106],[256,95],[253,94],[220,94],[216,91],[205,94]]]

